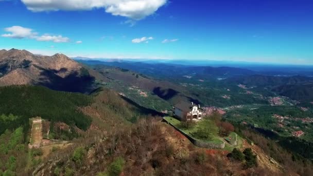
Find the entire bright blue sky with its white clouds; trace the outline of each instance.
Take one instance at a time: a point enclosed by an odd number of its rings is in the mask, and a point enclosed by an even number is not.
[[[0,49],[313,65],[313,1],[0,0]]]

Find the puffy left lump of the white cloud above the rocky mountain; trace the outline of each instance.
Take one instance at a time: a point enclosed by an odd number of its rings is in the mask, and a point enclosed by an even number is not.
[[[2,34],[1,35],[2,37],[9,37],[9,38],[14,38],[14,39],[24,39],[24,38],[33,39],[37,36],[37,33],[33,32],[32,29],[22,27],[22,26],[7,27],[4,30],[10,33]]]

